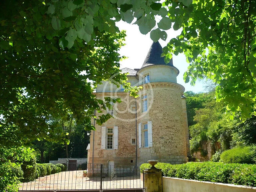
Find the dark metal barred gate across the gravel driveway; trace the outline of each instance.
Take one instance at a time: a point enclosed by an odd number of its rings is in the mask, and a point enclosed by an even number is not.
[[[19,191],[36,192],[143,192],[143,177],[138,168],[103,164],[69,163],[75,170],[63,169],[58,172],[58,164],[48,165],[43,176],[42,167],[31,171],[31,178],[26,178]],[[51,170],[51,174],[49,174]]]

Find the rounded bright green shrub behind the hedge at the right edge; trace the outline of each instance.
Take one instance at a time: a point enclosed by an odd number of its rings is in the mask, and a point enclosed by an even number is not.
[[[236,147],[224,151],[220,160],[224,163],[255,163],[256,146]]]

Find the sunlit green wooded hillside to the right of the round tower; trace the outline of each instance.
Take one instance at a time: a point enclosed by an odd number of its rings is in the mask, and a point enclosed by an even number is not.
[[[244,163],[255,163],[255,116],[241,121],[239,113],[236,113],[234,118],[230,118],[225,112],[226,106],[222,102],[216,102],[215,89],[206,93],[187,91],[184,95],[187,97],[190,150],[193,160],[196,160],[197,152],[201,160],[219,161],[224,151],[232,154],[239,151],[243,157],[235,157],[237,160],[232,159],[232,162],[241,163],[241,158],[247,158]],[[206,148],[207,144],[210,145],[209,151]],[[236,150],[237,148],[239,150]],[[249,157],[244,157],[245,155]]]

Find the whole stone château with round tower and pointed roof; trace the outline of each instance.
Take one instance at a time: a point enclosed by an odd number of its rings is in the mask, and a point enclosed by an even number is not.
[[[114,103],[110,118],[103,125],[94,123],[88,149],[88,163],[108,166],[138,167],[148,160],[185,163],[189,155],[189,133],[184,87],[177,83],[179,71],[173,61],[166,64],[162,47],[153,43],[139,69],[122,69],[129,73],[131,86],[142,86],[139,97],[130,97],[122,85],[109,81],[97,86],[95,95],[121,98]],[[97,113],[96,116],[101,115]]]

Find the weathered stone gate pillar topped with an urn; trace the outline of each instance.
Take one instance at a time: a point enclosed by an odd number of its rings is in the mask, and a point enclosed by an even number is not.
[[[143,170],[143,182],[145,192],[162,192],[162,171],[155,168],[158,161],[148,161],[152,167],[150,169]]]

